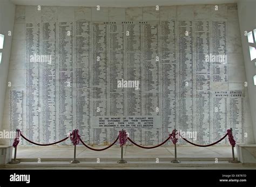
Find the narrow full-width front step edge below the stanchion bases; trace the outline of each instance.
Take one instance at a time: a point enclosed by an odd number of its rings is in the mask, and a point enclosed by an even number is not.
[[[6,164],[0,166],[1,169],[18,169],[18,168],[36,168],[36,169],[41,169],[41,168],[81,168],[81,169],[86,169],[86,168],[151,168],[151,169],[179,169],[183,167],[189,167],[191,169],[197,168],[197,167],[207,167],[207,168],[239,168],[243,167],[244,164],[242,163],[229,163],[227,161],[219,161],[218,163],[215,163],[214,161],[181,161],[181,163],[171,163],[171,162],[127,162],[125,164],[119,164],[117,162],[80,162],[77,164],[71,164],[69,162],[21,162],[19,164]],[[252,164],[251,166],[247,166],[254,168],[256,167],[256,164]]]

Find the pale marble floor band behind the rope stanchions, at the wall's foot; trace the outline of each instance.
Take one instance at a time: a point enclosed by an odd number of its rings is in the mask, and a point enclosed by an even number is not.
[[[93,148],[99,149],[104,146],[94,146]],[[72,146],[18,146],[17,158],[18,159],[66,159],[72,158],[74,148]],[[104,151],[93,151],[83,146],[78,146],[76,150],[77,158],[107,158],[119,159],[120,147],[112,146]],[[234,150],[236,156],[236,150]],[[13,153],[14,155],[14,153]],[[156,158],[172,158],[174,157],[174,147],[158,147],[154,149],[143,149],[136,146],[125,146],[124,157],[127,159],[156,159]],[[177,157],[179,158],[231,158],[231,146],[211,146],[211,147],[195,147],[195,146],[177,146]]]

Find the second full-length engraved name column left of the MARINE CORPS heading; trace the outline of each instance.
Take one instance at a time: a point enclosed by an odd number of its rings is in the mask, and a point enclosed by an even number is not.
[[[194,130],[193,22],[178,21],[179,129]],[[181,143],[185,143],[181,141]]]

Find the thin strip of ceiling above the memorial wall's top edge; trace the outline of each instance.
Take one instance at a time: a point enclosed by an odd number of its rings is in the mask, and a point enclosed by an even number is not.
[[[163,5],[223,4],[237,0],[9,0],[17,5],[136,7]]]

